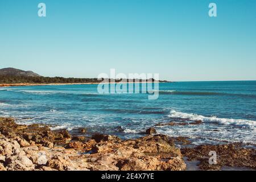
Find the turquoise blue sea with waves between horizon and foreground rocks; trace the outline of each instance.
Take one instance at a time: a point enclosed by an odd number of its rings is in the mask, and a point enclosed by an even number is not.
[[[0,88],[0,116],[19,123],[47,123],[53,129],[88,128],[88,134],[142,136],[159,122],[203,121],[201,125],[155,126],[158,133],[192,138],[194,144],[256,144],[256,81],[159,84],[148,94],[99,94],[97,85]]]

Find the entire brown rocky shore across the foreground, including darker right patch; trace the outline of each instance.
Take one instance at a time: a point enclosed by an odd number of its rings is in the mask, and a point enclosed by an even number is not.
[[[82,135],[86,129],[79,132]],[[253,148],[231,143],[180,149],[176,144],[185,146],[187,138],[154,133],[150,128],[144,137],[128,140],[104,134],[84,137],[67,130],[52,131],[48,125],[18,125],[13,118],[0,118],[0,171],[182,171],[186,169],[184,157],[199,161],[203,170],[256,169]],[[208,163],[209,151],[217,152],[217,165]]]

